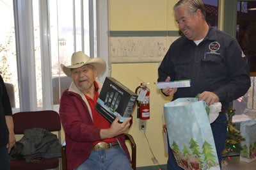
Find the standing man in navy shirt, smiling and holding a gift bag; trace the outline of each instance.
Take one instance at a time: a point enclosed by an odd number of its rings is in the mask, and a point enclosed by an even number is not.
[[[180,0],[173,7],[175,20],[184,34],[172,43],[158,68],[158,82],[191,80],[189,88],[164,88],[173,100],[196,97],[207,105],[221,102],[221,112],[211,123],[221,166],[227,135],[227,109],[230,102],[250,88],[248,61],[237,40],[209,26],[201,0]],[[168,147],[168,169],[182,169]]]

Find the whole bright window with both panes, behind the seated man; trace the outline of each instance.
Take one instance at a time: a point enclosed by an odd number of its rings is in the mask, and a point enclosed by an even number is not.
[[[103,52],[108,54],[108,48],[97,44],[97,34],[102,31],[101,26],[97,29],[101,22],[97,15],[106,15],[106,3],[0,0],[0,13],[5,16],[1,26],[4,34],[0,43],[0,71],[6,77],[4,81],[15,86],[17,110],[52,109],[52,79],[63,76],[60,64],[70,65],[74,51],[83,50],[91,58]],[[97,13],[97,8],[103,10]]]

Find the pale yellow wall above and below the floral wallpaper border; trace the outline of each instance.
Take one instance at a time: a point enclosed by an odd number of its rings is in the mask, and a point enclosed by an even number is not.
[[[177,0],[109,0],[109,31],[176,31],[172,6]],[[167,47],[168,48],[168,47]],[[137,107],[132,115],[133,124],[129,133],[137,144],[137,167],[156,166],[151,158],[150,147],[159,164],[166,164],[168,155],[164,150],[163,104],[170,102],[156,89],[157,68],[159,63],[115,63],[111,65],[111,76],[122,82],[127,88],[135,91],[140,83],[148,82],[150,89],[150,120],[144,135],[139,130],[139,119],[136,118]]]

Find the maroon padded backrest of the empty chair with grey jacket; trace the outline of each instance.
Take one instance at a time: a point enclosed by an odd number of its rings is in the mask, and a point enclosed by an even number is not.
[[[29,128],[60,131],[60,115],[56,111],[26,111],[13,114],[14,134],[24,134]]]

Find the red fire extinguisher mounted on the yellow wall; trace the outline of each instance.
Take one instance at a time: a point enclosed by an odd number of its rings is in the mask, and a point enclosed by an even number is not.
[[[140,86],[135,89],[135,93],[138,95],[137,100],[137,118],[141,120],[149,120],[150,108],[149,108],[149,95],[150,89],[147,88],[147,83],[141,82]]]

